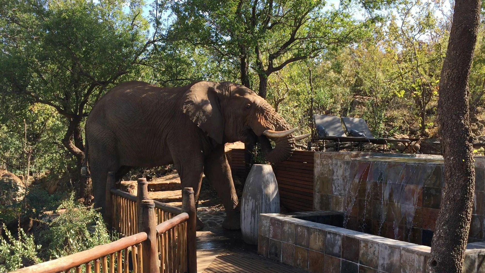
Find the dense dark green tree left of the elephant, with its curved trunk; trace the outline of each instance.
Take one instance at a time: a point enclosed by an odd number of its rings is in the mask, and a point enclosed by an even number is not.
[[[91,105],[124,75],[139,72],[138,63],[160,41],[157,20],[148,38],[142,5],[132,1],[124,12],[120,0],[0,0],[0,92],[5,101],[57,111],[78,174],[85,164],[82,121]],[[81,180],[81,196],[87,186]]]

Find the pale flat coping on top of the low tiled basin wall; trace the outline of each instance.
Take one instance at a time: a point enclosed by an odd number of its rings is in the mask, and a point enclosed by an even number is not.
[[[420,255],[425,255],[429,256],[431,254],[431,247],[425,246],[425,245],[419,245],[415,243],[410,243],[410,242],[405,242],[405,241],[400,241],[396,239],[389,239],[377,235],[372,235],[372,234],[367,234],[363,232],[358,232],[342,227],[336,227],[332,225],[327,225],[327,224],[322,224],[322,223],[317,223],[317,222],[311,222],[307,220],[302,220],[298,218],[294,218],[294,216],[307,216],[307,215],[312,215],[315,213],[292,213],[292,214],[281,214],[281,213],[261,213],[259,214],[259,217],[261,219],[264,218],[274,218],[277,220],[281,220],[284,222],[291,222],[294,224],[299,224],[302,226],[307,226],[315,229],[320,229],[320,230],[325,230],[325,231],[330,231],[332,233],[337,233],[340,235],[352,237],[355,239],[359,240],[364,240],[364,241],[369,241],[369,242],[375,242],[375,243],[380,243],[380,244],[386,244],[391,247],[399,248],[401,250],[406,250],[410,252],[415,252]],[[467,245],[467,251],[465,252],[466,254],[471,254],[471,253],[484,253],[485,254],[485,242],[475,242],[475,243],[469,243]]]

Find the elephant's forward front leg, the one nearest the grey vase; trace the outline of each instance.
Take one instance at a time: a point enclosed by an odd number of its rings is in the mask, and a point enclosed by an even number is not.
[[[226,229],[240,229],[241,219],[238,196],[232,181],[231,168],[224,153],[224,145],[218,145],[204,162],[204,173],[226,209],[226,219],[222,226]]]

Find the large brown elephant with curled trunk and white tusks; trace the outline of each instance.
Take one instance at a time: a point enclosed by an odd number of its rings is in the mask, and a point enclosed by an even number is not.
[[[243,85],[196,81],[162,88],[121,83],[99,99],[85,124],[95,208],[104,212],[109,171],[119,181],[132,167],[174,164],[182,188],[194,188],[196,203],[204,173],[225,207],[223,227],[239,229],[238,197],[224,144],[259,142],[269,161],[281,162],[290,157],[296,140],[309,135],[293,136],[296,129]],[[198,228],[202,226],[199,220]]]

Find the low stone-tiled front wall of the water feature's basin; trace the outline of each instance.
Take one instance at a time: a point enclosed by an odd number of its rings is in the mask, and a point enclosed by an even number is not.
[[[485,272],[485,243],[469,243],[464,272]],[[430,247],[283,214],[260,214],[258,253],[312,273],[424,273]]]

